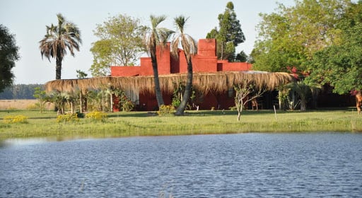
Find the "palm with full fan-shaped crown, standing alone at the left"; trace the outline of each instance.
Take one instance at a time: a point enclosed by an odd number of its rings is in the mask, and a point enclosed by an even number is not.
[[[78,27],[66,21],[61,13],[57,14],[58,25],[47,26],[47,34],[40,40],[40,53],[43,57],[56,59],[55,79],[61,79],[62,61],[66,55],[66,49],[74,57],[74,50],[79,51],[81,44],[81,32]]]

